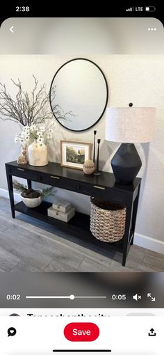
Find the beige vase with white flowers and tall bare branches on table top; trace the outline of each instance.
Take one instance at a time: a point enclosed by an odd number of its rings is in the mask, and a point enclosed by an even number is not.
[[[61,121],[74,115],[72,111],[65,113],[60,104],[54,104],[51,108],[46,85],[39,86],[35,75],[33,75],[33,80],[33,89],[31,93],[28,93],[19,79],[17,81],[11,79],[13,87],[17,89],[14,96],[8,93],[6,84],[0,82],[0,119],[10,120],[23,126],[22,134],[15,137],[15,142],[22,145],[22,155],[18,157],[17,163],[26,164],[29,160],[30,165],[44,166],[48,164],[46,143],[47,139],[52,138],[51,127],[55,122],[54,114]],[[51,88],[53,102],[54,97],[56,97],[56,86]],[[28,145],[31,145],[29,149]]]

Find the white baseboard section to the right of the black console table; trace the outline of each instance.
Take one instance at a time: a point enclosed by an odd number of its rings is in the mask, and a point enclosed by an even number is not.
[[[142,246],[142,248],[147,248],[151,251],[156,251],[156,253],[161,253],[164,255],[164,242],[162,240],[153,239],[147,237],[147,235],[135,233],[134,244],[138,246]]]

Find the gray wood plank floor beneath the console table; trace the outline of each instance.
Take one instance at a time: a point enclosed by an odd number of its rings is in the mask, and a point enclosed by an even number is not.
[[[17,213],[12,219],[6,198],[0,198],[0,271],[164,271],[164,255],[131,246],[122,267],[122,254],[110,258],[76,244],[74,237],[54,234],[53,226]]]

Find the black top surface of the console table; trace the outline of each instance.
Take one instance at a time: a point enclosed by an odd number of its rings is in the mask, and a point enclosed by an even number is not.
[[[27,171],[35,171],[48,175],[56,175],[60,178],[67,178],[71,180],[76,180],[77,182],[113,188],[126,192],[135,191],[141,182],[141,178],[136,178],[133,181],[133,184],[131,185],[117,184],[115,182],[115,176],[113,175],[113,173],[106,173],[105,171],[101,171],[101,175],[99,176],[85,175],[83,173],[83,170],[67,168],[54,162],[49,162],[49,164],[47,164],[46,166],[31,166],[29,164],[17,164],[17,161],[11,161],[9,163],[6,163],[6,166],[15,166],[16,168],[24,168]]]

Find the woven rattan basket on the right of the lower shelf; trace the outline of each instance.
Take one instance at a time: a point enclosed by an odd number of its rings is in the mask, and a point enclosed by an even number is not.
[[[126,207],[91,197],[90,230],[103,242],[117,242],[124,235]]]

